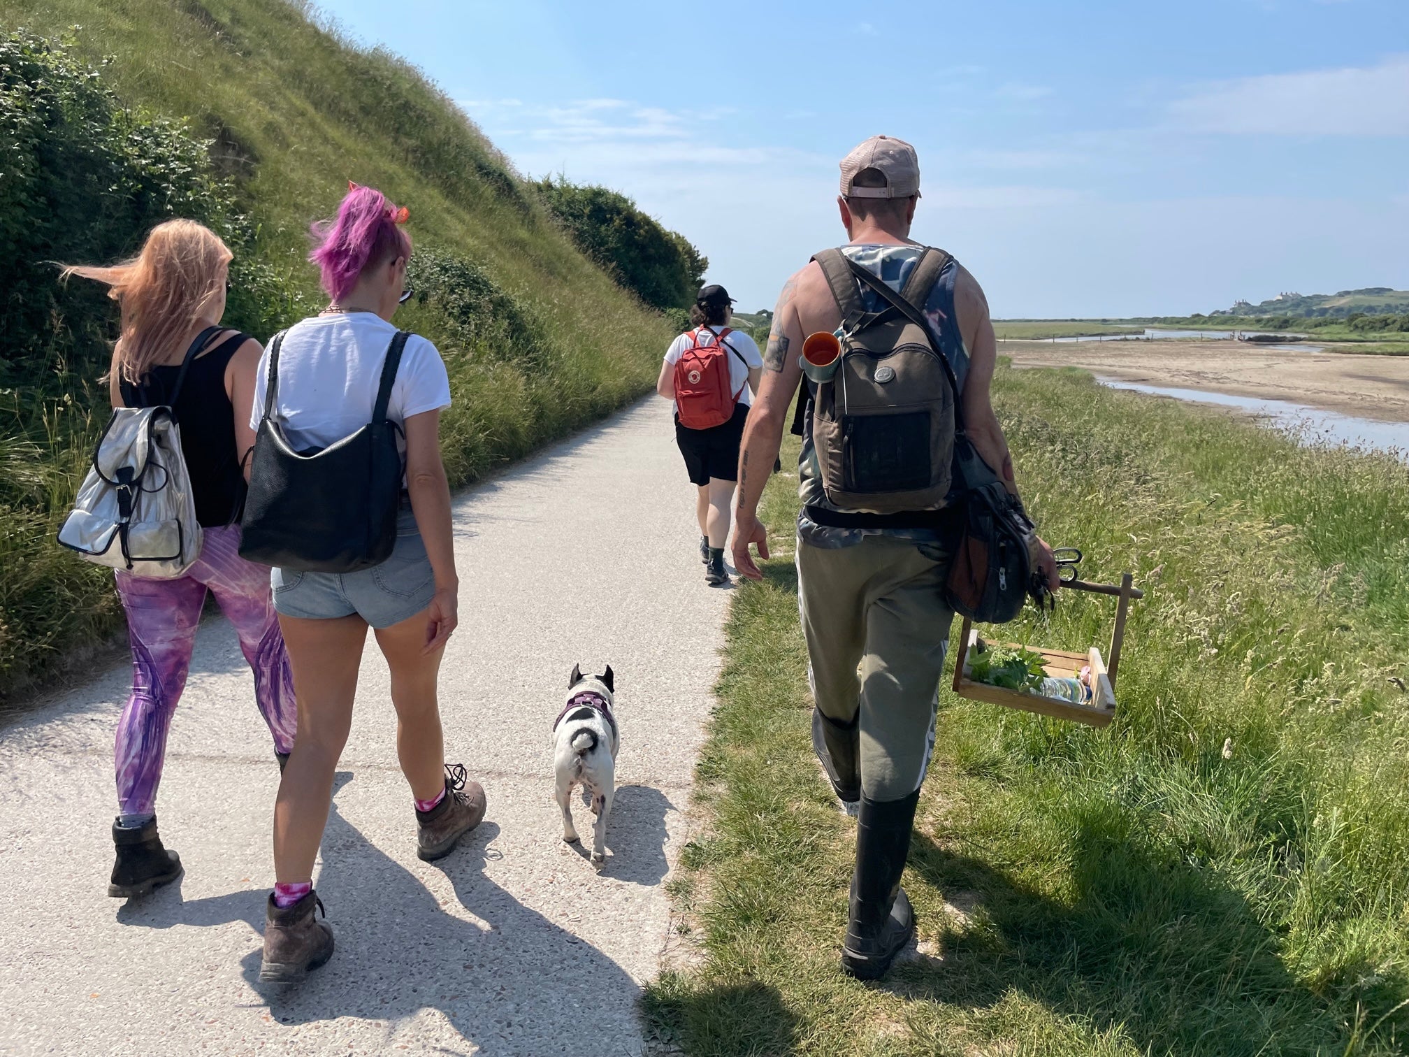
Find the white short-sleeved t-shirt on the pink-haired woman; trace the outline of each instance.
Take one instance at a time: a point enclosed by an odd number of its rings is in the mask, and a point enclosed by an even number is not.
[[[310,316],[294,323],[279,350],[278,417],[296,448],[325,448],[369,421],[382,385],[382,365],[396,327],[371,311]],[[271,342],[273,344],[273,342]],[[259,358],[249,427],[259,428],[269,385],[269,350]],[[449,376],[440,352],[413,334],[402,350],[386,417],[449,407]]]

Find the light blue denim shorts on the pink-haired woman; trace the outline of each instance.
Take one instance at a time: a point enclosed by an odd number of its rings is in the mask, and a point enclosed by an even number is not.
[[[390,627],[413,617],[435,595],[435,574],[410,505],[396,517],[396,548],[380,565],[358,572],[294,572],[269,575],[273,607],[283,616],[331,620],[356,613],[372,627]]]

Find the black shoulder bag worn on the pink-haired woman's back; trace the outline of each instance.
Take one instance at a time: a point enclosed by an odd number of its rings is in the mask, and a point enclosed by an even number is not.
[[[325,448],[296,450],[278,417],[279,351],[269,344],[269,386],[255,434],[240,555],[296,572],[356,572],[380,565],[396,545],[406,468],[402,427],[386,417],[410,337],[386,350],[372,421]]]

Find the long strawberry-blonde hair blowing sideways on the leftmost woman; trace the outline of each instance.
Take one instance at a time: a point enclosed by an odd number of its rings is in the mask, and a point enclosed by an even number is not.
[[[168,220],[152,228],[132,259],[111,268],[72,265],[62,278],[80,275],[111,288],[107,296],[123,310],[113,368],[121,381],[138,383],[211,306],[221,292],[221,269],[232,258],[204,224]]]

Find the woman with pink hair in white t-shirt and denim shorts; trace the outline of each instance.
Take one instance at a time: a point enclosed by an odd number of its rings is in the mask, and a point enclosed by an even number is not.
[[[352,185],[335,220],[316,224],[310,259],[330,303],[285,331],[271,417],[297,448],[323,450],[373,416],[382,368],[397,337],[392,316],[409,296],[407,220],[372,187]],[[259,361],[251,428],[265,416],[269,357]],[[455,630],[459,579],[440,414],[449,378],[435,345],[406,338],[386,417],[404,433],[406,483],[392,555],[358,572],[275,568],[275,609],[299,693],[299,729],[273,816],[275,888],[265,920],[263,981],[302,979],[333,956],[333,930],[314,916],[313,864],[328,820],[333,774],[352,723],[366,630],[392,671],[396,753],[411,786],[417,854],[435,860],[485,816],[485,791],[447,765],[437,675]]]

